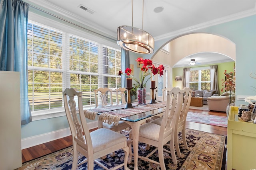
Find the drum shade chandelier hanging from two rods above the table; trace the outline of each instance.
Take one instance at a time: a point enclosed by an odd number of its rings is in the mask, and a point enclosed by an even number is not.
[[[142,29],[133,27],[133,0],[132,0],[132,27],[120,26],[117,28],[117,44],[135,53],[152,54],[154,53],[154,38],[143,30],[144,0],[142,8]]]

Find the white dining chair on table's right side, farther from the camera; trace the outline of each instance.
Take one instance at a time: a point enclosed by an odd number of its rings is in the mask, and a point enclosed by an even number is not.
[[[178,157],[181,157],[179,143],[178,143],[178,133],[180,131],[182,131],[182,141],[185,146],[185,149],[188,149],[185,129],[186,129],[186,118],[187,118],[188,109],[189,109],[191,97],[192,97],[192,90],[190,88],[183,88],[182,96],[183,96],[183,105],[182,105],[182,109],[180,111],[178,123],[175,127],[175,139],[174,139],[174,144],[175,144],[175,148],[176,148]],[[157,125],[161,125],[162,119],[163,119],[163,117],[160,117],[160,118],[154,119],[150,122],[156,123]]]

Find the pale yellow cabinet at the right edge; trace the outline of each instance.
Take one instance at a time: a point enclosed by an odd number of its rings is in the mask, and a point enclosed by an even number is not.
[[[238,107],[228,115],[228,170],[256,169],[256,124],[238,118]]]

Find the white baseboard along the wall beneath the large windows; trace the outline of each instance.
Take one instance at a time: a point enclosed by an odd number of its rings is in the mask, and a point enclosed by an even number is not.
[[[92,121],[88,123],[89,129],[94,129],[98,127],[98,121]],[[44,133],[42,135],[36,135],[33,137],[24,138],[21,140],[21,149],[26,149],[42,143],[54,141],[62,137],[71,135],[70,128],[60,129],[58,131],[52,131],[50,133]]]

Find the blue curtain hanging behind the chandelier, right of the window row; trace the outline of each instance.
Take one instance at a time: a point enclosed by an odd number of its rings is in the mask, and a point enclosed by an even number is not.
[[[121,70],[122,72],[125,71],[125,69],[129,67],[130,68],[130,57],[129,57],[129,51],[126,49],[121,48]],[[121,75],[121,87],[126,87],[125,82],[127,76],[124,74]]]

